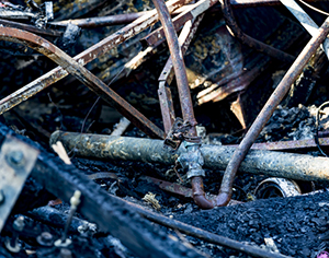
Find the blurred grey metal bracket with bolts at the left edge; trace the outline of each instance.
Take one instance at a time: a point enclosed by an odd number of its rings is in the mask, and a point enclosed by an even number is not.
[[[0,152],[0,233],[15,204],[39,151],[7,136]]]

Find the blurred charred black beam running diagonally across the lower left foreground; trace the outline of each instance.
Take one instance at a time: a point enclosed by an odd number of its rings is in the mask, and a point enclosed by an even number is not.
[[[0,124],[0,142],[7,134],[36,146],[30,139],[14,134]],[[64,164],[53,154],[41,150],[31,176],[67,202],[76,190],[80,190],[82,195],[78,211],[97,223],[101,231],[121,239],[127,248],[140,257],[204,257],[194,248],[171,239],[159,227],[141,219],[133,207],[113,198],[81,171]]]

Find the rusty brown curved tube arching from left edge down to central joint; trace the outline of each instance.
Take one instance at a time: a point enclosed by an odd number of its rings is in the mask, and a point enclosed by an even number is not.
[[[135,109],[129,103],[117,95],[99,78],[93,75],[84,67],[61,51],[48,40],[18,28],[0,27],[0,40],[23,44],[36,51],[45,55],[67,72],[75,75],[79,81],[87,85],[91,91],[100,95],[105,102],[113,105],[121,114],[128,118],[136,127],[154,138],[164,138],[164,132],[147,119],[143,114]]]

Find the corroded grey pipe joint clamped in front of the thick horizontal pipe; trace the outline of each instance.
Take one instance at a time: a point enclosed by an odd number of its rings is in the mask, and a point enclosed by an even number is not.
[[[188,168],[188,178],[194,176],[205,176],[204,169],[202,168],[204,159],[200,151],[201,144],[184,141],[184,146],[186,152],[182,153],[178,161],[183,168]]]

